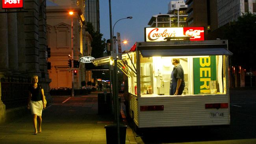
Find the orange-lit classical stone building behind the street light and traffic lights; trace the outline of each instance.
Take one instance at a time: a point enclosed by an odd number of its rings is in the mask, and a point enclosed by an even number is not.
[[[91,35],[85,31],[85,2],[53,0],[47,6],[47,42],[51,48],[51,63],[49,76],[52,78],[51,88],[71,88],[72,72],[69,59],[72,54],[72,28],[73,22],[73,54],[74,60],[91,56]],[[74,14],[69,15],[69,11]],[[89,37],[89,38],[88,38]],[[70,56],[69,56],[70,55]],[[80,62],[77,73],[74,74],[74,89],[81,89],[82,81],[91,81],[91,71],[85,72],[85,64]]]

